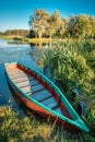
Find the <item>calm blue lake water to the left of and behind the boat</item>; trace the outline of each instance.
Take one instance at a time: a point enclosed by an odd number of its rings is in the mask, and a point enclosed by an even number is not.
[[[13,94],[9,87],[4,63],[20,61],[29,68],[34,68],[41,73],[43,71],[43,55],[46,45],[38,47],[35,45],[16,45],[8,44],[7,40],[0,39],[0,106],[11,104],[14,109],[22,111],[15,103]]]

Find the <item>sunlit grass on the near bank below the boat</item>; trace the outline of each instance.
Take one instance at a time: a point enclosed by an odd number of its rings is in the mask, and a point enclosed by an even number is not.
[[[10,106],[0,107],[0,142],[82,142],[82,137],[49,119],[21,117]]]

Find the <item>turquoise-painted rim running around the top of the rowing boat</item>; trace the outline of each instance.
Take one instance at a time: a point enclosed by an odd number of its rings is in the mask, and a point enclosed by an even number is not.
[[[19,64],[23,68],[25,68],[26,70],[32,71],[33,73],[35,73],[35,75],[38,75],[40,79],[43,79],[48,85],[50,85],[50,87],[57,93],[57,95],[59,96],[59,98],[61,99],[62,103],[64,103],[64,106],[68,105],[70,106],[70,109],[73,111],[73,114],[75,115],[76,119],[70,119],[66,116],[62,116],[58,113],[56,113],[55,110],[48,108],[47,106],[43,105],[41,103],[37,102],[36,99],[29,97],[28,95],[26,95],[26,93],[24,93],[20,87],[17,87],[17,85],[12,81],[12,79],[10,78],[10,74],[7,70],[7,66],[11,66],[11,64]],[[80,118],[80,116],[76,114],[76,111],[74,110],[74,108],[71,106],[71,104],[68,102],[68,99],[63,96],[62,92],[47,78],[45,76],[43,73],[36,71],[35,69],[31,69],[28,67],[25,67],[24,64],[20,63],[20,62],[12,62],[12,63],[4,63],[5,67],[5,73],[8,75],[8,79],[11,81],[11,83],[13,84],[13,86],[15,88],[17,88],[17,91],[24,96],[26,97],[28,100],[33,102],[34,104],[36,104],[37,106],[41,107],[43,109],[47,110],[48,113],[50,113],[51,115],[54,115],[55,117],[69,122],[70,125],[74,126],[75,128],[86,131],[88,132],[88,128],[85,126],[85,123],[83,122],[83,120]],[[52,87],[54,86],[54,87]],[[67,108],[67,107],[66,107]],[[81,123],[81,125],[80,125]]]

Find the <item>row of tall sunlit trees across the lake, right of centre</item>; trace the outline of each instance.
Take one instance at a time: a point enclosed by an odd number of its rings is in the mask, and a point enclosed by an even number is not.
[[[61,17],[59,11],[50,15],[47,11],[36,9],[29,16],[31,37],[76,37],[95,38],[95,16],[80,14],[70,19]]]

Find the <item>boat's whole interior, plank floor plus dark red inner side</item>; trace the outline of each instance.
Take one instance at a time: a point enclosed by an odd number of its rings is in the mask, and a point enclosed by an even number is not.
[[[46,83],[38,76],[32,75],[29,71],[26,71],[24,68],[22,69],[20,66],[14,66],[12,68],[11,66],[8,66],[7,70],[10,79],[26,95],[55,110],[56,113],[72,119],[57,94],[51,90],[50,86],[47,85],[46,87]]]

